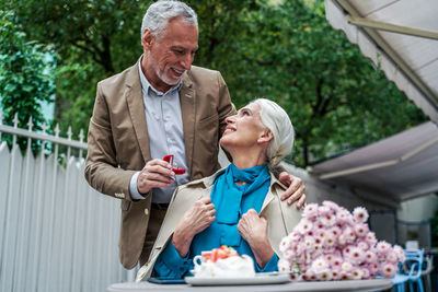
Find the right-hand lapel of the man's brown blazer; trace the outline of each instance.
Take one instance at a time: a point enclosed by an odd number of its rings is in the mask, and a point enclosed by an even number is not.
[[[196,93],[193,89],[193,82],[187,72],[183,75],[183,85],[181,86],[180,91],[180,103],[183,117],[185,154],[187,157],[188,170],[192,170],[196,120]]]

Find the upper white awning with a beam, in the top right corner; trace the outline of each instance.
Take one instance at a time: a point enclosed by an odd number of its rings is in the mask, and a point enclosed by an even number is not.
[[[438,1],[325,0],[325,13],[438,125]]]

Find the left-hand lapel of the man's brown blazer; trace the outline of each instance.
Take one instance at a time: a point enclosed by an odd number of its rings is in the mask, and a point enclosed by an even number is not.
[[[130,119],[132,120],[134,130],[137,141],[140,145],[141,155],[145,163],[150,160],[149,135],[146,124],[145,104],[141,93],[140,75],[138,74],[138,62],[131,67],[127,77],[125,98],[128,103]]]

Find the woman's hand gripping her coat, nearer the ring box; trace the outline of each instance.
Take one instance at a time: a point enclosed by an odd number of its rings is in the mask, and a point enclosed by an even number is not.
[[[172,244],[181,257],[187,255],[193,237],[216,220],[215,213],[215,205],[210,198],[197,200],[192,209],[184,213],[172,236]]]

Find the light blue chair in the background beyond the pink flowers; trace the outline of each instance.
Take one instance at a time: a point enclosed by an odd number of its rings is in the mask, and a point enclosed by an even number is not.
[[[399,271],[395,273],[394,278],[392,278],[395,292],[404,292],[406,282],[410,283],[411,292],[415,292],[413,287],[414,282],[417,283],[418,291],[424,292],[422,282],[424,249],[405,249],[404,254],[406,257],[404,266],[400,264]],[[408,272],[403,272],[403,270],[408,270]]]

